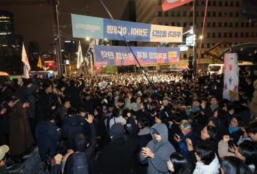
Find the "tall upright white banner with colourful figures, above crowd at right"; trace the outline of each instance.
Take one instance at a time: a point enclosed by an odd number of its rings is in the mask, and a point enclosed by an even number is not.
[[[238,97],[239,67],[238,54],[229,53],[224,56],[224,88],[223,98],[235,101]]]

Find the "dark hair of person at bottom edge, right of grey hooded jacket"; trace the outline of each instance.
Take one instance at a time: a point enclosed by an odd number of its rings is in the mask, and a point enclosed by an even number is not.
[[[173,174],[190,174],[188,159],[186,159],[181,153],[174,152],[170,155],[169,159],[174,166]]]

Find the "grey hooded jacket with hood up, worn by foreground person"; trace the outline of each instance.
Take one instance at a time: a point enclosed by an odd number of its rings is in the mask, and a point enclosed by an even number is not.
[[[156,141],[153,134],[155,130],[162,138],[160,142]],[[144,158],[142,152],[140,152],[140,162],[142,164],[148,163],[148,174],[169,173],[167,161],[169,161],[169,156],[172,155],[173,152],[176,152],[176,150],[168,141],[168,130],[166,125],[161,122],[154,124],[150,129],[150,134],[153,140],[147,144],[147,148],[151,149],[154,153],[154,157]]]

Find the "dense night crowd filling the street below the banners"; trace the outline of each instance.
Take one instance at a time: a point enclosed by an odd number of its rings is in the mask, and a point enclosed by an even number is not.
[[[38,148],[44,173],[257,173],[257,70],[240,100],[183,72],[0,84],[0,173]]]

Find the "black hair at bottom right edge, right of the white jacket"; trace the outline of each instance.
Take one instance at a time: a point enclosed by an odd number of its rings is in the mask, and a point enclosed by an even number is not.
[[[251,169],[238,157],[224,157],[220,163],[220,168],[225,174],[252,174]]]

